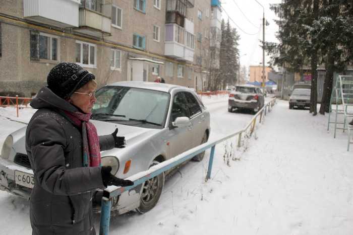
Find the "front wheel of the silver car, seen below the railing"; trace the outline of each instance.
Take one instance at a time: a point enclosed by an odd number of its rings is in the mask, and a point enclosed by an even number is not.
[[[159,164],[158,161],[153,161],[151,166]],[[164,186],[164,173],[145,181],[142,186],[140,197],[140,206],[136,209],[139,213],[143,214],[151,210],[158,202],[162,194]]]

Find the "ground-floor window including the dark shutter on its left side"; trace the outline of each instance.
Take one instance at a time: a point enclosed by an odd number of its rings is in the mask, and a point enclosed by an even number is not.
[[[60,60],[59,45],[59,38],[56,36],[30,31],[31,60]]]

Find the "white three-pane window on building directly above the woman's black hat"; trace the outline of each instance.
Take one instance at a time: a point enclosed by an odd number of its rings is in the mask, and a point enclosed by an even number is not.
[[[83,67],[96,67],[97,45],[76,41],[76,63]]]

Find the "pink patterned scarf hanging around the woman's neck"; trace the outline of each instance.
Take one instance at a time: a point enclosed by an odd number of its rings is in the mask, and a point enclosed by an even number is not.
[[[84,114],[81,112],[68,112],[65,114],[79,127],[82,127],[82,143],[83,143],[83,166],[84,167],[99,167],[100,162],[100,147],[97,129],[89,121],[91,113]]]

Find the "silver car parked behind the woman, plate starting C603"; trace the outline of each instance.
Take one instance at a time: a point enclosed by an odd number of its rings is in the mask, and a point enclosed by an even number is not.
[[[207,141],[210,114],[196,92],[186,87],[162,83],[118,82],[96,92],[92,123],[98,135],[119,129],[126,137],[125,148],[102,151],[102,165],[111,166],[113,174],[128,178],[151,166]],[[25,150],[26,127],[10,134],[0,158],[0,189],[29,198],[33,171]],[[194,157],[201,161],[204,152]],[[166,174],[170,173],[167,172]],[[165,174],[138,185],[115,198],[112,210],[122,214],[136,209],[152,209],[163,189]],[[102,192],[95,202],[100,205]],[[96,207],[99,210],[99,207]]]

